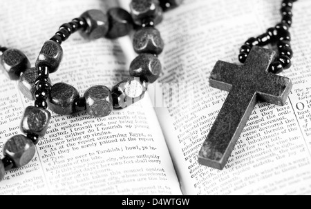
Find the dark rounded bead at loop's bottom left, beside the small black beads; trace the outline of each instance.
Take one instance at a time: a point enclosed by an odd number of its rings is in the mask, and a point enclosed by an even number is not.
[[[70,115],[75,112],[75,101],[79,92],[67,83],[56,83],[50,90],[48,107],[59,115]]]

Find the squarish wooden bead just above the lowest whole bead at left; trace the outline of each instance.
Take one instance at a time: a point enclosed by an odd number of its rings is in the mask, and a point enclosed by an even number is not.
[[[21,132],[44,137],[50,122],[50,112],[42,108],[28,107],[21,118]]]

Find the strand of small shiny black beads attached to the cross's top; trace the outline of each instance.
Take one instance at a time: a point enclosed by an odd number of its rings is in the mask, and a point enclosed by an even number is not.
[[[240,49],[238,60],[245,63],[247,56],[253,46],[266,46],[269,43],[276,43],[279,50],[279,56],[276,57],[269,67],[269,72],[274,74],[287,70],[292,66],[293,51],[290,45],[290,27],[292,26],[292,6],[297,0],[283,0],[281,14],[282,21],[274,28],[267,29],[267,32],[257,38],[249,38]]]

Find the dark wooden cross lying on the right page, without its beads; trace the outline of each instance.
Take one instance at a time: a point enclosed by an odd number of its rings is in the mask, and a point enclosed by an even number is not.
[[[267,72],[274,56],[274,51],[254,46],[243,66],[216,63],[209,84],[229,94],[199,152],[201,165],[223,170],[257,101],[285,105],[292,81]]]

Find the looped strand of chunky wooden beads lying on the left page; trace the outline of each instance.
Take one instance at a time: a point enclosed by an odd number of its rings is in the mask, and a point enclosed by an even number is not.
[[[158,59],[164,48],[160,32],[154,28],[162,21],[163,11],[180,5],[180,0],[133,0],[131,14],[122,8],[111,8],[107,14],[100,10],[88,10],[79,18],[60,26],[59,31],[44,43],[35,63],[16,49],[0,48],[3,72],[12,80],[19,80],[19,90],[28,99],[35,100],[35,106],[26,108],[21,117],[21,132],[3,146],[4,158],[0,160],[0,181],[6,171],[26,166],[35,156],[35,145],[44,137],[50,121],[48,107],[59,115],[86,110],[92,117],[106,117],[113,108],[126,108],[140,101],[147,91],[148,83],[160,76],[162,66]],[[138,30],[133,37],[133,48],[139,55],[129,68],[131,77],[115,85],[112,90],[106,86],[93,86],[84,97],[67,83],[51,85],[48,78],[56,72],[62,61],[61,44],[70,34],[80,30],[87,39],[123,37],[135,25]]]

